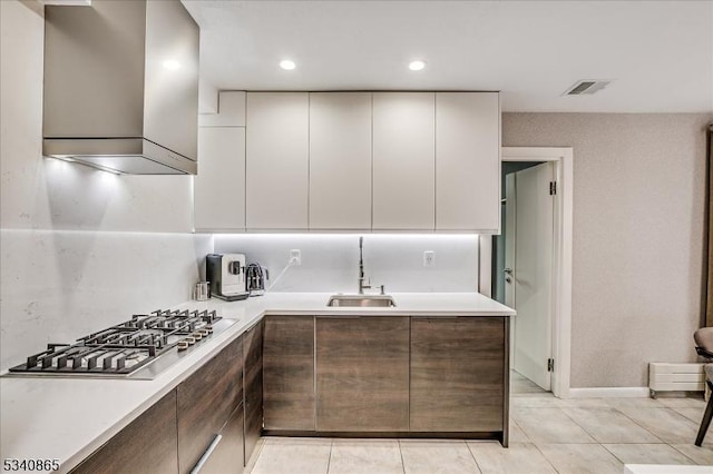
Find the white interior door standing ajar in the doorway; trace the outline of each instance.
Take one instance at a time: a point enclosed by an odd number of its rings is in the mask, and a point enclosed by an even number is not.
[[[546,391],[551,385],[548,359],[553,354],[553,181],[551,162],[515,174],[515,261],[506,267],[512,268],[506,277],[514,282],[517,309],[512,367]],[[507,196],[506,205],[509,201]]]

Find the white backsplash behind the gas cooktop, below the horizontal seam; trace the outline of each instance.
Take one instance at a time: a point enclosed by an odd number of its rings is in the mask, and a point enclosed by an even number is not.
[[[0,231],[0,369],[47,343],[184,303],[199,279],[207,235]]]

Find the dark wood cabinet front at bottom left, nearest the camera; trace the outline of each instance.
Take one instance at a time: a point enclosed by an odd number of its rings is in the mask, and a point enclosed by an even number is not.
[[[178,472],[176,391],[169,392],[71,472],[74,474],[175,474]]]

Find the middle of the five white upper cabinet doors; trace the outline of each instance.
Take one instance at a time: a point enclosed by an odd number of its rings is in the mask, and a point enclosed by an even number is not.
[[[310,228],[371,229],[371,92],[310,93]]]

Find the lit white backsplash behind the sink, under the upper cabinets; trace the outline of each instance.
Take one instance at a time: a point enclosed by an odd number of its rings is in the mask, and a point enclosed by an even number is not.
[[[245,254],[248,263],[266,266],[273,292],[356,292],[358,234],[245,234],[214,238],[216,253]],[[387,293],[477,292],[478,236],[365,235],[363,248],[364,273],[373,287],[368,292],[378,290],[379,285],[385,285]],[[291,249],[301,251],[301,266],[286,268]],[[434,265],[428,268],[423,267],[427,250],[436,253]]]

